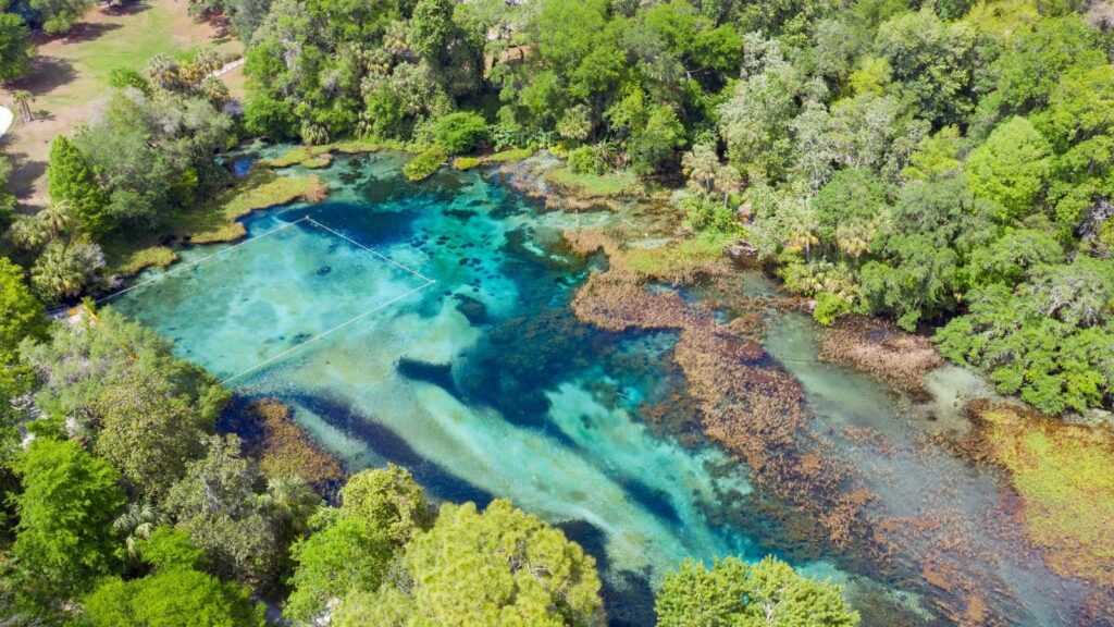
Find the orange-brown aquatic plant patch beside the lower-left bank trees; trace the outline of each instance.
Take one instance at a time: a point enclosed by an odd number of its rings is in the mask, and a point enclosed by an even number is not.
[[[317,446],[276,399],[251,403],[231,426],[267,476],[299,476],[324,495],[343,478],[336,457]]]

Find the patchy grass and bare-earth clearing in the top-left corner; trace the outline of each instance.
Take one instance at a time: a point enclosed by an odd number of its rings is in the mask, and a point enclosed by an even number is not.
[[[21,200],[42,205],[50,142],[69,134],[109,94],[108,74],[116,67],[139,69],[155,55],[187,56],[212,46],[223,55],[240,55],[238,40],[207,22],[195,22],[184,0],[145,0],[120,11],[95,8],[67,37],[38,41],[38,57],[14,88],[35,96],[33,122],[18,118],[3,138],[14,162],[11,184]],[[11,93],[0,103],[16,110]]]

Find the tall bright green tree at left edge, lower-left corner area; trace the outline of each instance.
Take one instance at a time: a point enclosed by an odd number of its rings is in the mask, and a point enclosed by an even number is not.
[[[111,524],[124,504],[116,471],[75,442],[46,437],[19,455],[16,471],[23,492],[11,554],[22,595],[47,607],[113,572]]]

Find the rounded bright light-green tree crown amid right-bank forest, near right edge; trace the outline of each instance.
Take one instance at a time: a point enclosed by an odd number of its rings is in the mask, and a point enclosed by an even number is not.
[[[976,196],[997,203],[995,216],[1009,222],[1029,214],[1048,179],[1048,142],[1024,117],[998,125],[967,158],[967,179]]]

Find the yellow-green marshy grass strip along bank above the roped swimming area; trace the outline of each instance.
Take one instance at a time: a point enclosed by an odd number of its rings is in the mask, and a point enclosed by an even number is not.
[[[150,266],[169,266],[177,260],[167,239],[189,240],[195,244],[231,242],[246,234],[240,218],[270,206],[306,200],[316,202],[328,190],[317,176],[278,176],[267,168],[256,168],[233,187],[203,206],[183,211],[160,233],[136,239],[115,238],[104,243],[109,271],[135,274]]]

